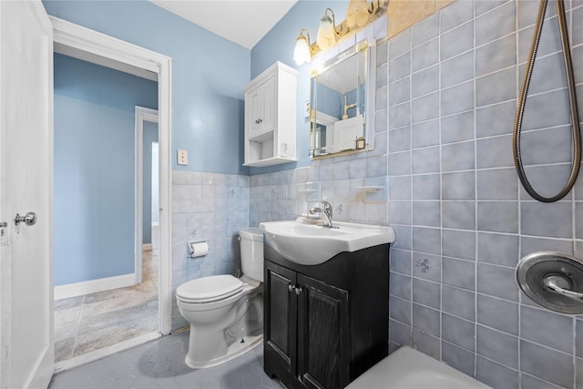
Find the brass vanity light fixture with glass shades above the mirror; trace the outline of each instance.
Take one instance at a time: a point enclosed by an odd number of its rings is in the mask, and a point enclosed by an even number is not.
[[[320,20],[316,42],[310,44],[310,33],[302,28],[295,41],[293,60],[299,66],[309,64],[312,56],[336,45],[344,36],[352,35],[383,15],[388,4],[389,0],[350,0],[346,20],[339,25],[336,25],[332,9],[326,8]]]

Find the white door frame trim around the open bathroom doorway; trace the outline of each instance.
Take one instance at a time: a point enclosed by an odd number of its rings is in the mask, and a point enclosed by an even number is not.
[[[67,56],[73,56],[89,62],[115,68],[122,71],[136,72],[140,77],[157,77],[159,100],[159,266],[158,266],[158,298],[155,299],[158,312],[155,319],[160,333],[170,331],[171,310],[171,249],[170,249],[170,58],[153,53],[138,46],[104,36],[85,27],[77,26],[61,19],[51,17],[54,27],[56,51]],[[107,158],[107,156],[105,157]],[[141,252],[141,251],[140,251]],[[134,275],[135,277],[135,275]],[[141,342],[148,339],[140,337]],[[151,339],[151,336],[149,336]],[[135,344],[135,343],[134,343]],[[108,353],[117,352],[126,346],[124,343],[114,347]],[[87,358],[79,363],[86,363],[104,354],[87,354]],[[66,366],[66,367],[71,367]],[[64,367],[61,367],[64,368]],[[59,366],[56,366],[59,370]]]

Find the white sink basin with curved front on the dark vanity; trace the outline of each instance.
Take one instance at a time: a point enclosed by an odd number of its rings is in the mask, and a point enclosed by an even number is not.
[[[275,251],[301,265],[318,265],[343,251],[394,242],[393,227],[333,221],[331,229],[299,220],[265,221],[259,227]]]

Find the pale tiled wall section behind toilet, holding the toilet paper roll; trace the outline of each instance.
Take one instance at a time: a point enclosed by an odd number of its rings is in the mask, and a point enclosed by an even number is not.
[[[183,282],[240,270],[238,231],[249,227],[249,177],[192,171],[172,173],[172,289]],[[189,241],[208,241],[190,258]],[[172,328],[187,325],[173,300]]]

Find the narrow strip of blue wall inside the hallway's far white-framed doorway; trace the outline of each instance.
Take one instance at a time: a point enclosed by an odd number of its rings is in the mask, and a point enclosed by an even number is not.
[[[142,180],[142,243],[152,242],[152,143],[158,142],[158,123],[144,122]]]

